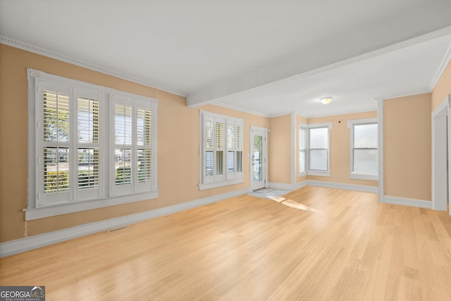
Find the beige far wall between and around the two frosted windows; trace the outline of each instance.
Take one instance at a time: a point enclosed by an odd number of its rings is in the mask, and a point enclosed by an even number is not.
[[[363,118],[377,118],[377,111],[352,113],[321,118],[309,118],[309,124],[332,122],[330,130],[330,177],[307,176],[309,180],[377,186],[378,181],[350,179],[350,129],[347,121]]]

